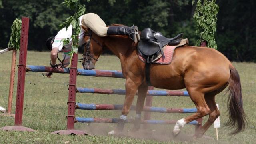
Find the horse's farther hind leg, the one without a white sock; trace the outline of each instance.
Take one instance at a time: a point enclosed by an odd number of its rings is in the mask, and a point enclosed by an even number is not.
[[[220,111],[218,110],[215,102],[215,95],[214,93],[206,93],[205,94],[205,100],[210,108],[210,114],[207,122],[200,128],[198,131],[196,131],[195,137],[196,138],[201,138],[206,130],[212,125],[212,123],[220,116]]]

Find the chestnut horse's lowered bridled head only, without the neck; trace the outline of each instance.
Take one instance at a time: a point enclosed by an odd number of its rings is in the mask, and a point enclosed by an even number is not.
[[[84,54],[82,67],[85,70],[92,70],[95,68],[95,63],[98,61],[102,53],[102,45],[96,39],[92,38],[92,33],[89,31],[84,37]]]

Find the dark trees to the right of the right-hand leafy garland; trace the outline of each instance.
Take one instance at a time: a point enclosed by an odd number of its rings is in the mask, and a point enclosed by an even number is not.
[[[218,49],[230,60],[256,62],[255,0],[225,0],[218,5]]]

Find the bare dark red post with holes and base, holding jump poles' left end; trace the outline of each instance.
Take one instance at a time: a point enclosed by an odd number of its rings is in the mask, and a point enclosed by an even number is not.
[[[31,128],[22,126],[23,102],[24,102],[24,88],[25,88],[25,74],[26,74],[26,59],[28,48],[28,26],[29,18],[22,17],[22,25],[20,32],[20,58],[18,68],[18,83],[16,96],[16,110],[15,110],[15,126],[6,126],[1,130],[18,130],[18,131],[35,131]]]

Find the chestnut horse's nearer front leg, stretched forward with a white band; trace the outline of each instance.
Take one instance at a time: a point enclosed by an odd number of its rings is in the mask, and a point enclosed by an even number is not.
[[[133,102],[134,96],[138,90],[139,85],[140,84],[136,84],[130,78],[126,79],[126,84],[125,84],[126,94],[125,94],[124,106],[122,109],[122,115],[120,116],[116,130],[112,130],[112,131],[108,132],[109,135],[114,135],[118,132],[122,132],[122,130],[124,129],[124,124],[127,120],[127,115],[130,112],[130,108],[132,106],[132,102]]]

